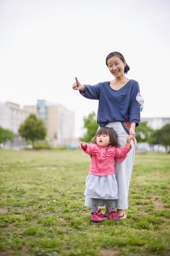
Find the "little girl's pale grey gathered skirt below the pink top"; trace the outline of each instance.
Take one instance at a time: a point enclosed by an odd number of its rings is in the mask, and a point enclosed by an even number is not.
[[[86,179],[84,195],[98,199],[118,199],[118,187],[115,174],[107,176],[89,174]]]

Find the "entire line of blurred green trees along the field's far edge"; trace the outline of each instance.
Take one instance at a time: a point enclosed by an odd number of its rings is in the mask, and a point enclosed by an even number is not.
[[[84,116],[83,121],[85,133],[80,140],[90,142],[98,129],[96,113],[92,112]],[[166,151],[170,151],[170,124],[166,124],[161,129],[153,130],[147,122],[141,122],[135,131],[138,142],[159,144],[165,146]],[[44,140],[47,135],[47,129],[41,118],[38,118],[35,114],[30,114],[20,125],[18,133],[27,142],[31,141],[34,147],[35,141]],[[12,131],[0,127],[0,143],[12,141],[14,137],[15,135]]]

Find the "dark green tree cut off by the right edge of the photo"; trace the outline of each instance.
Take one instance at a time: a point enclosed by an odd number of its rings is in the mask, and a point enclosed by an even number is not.
[[[161,129],[155,130],[151,142],[152,144],[165,146],[166,151],[168,151],[168,147],[170,147],[170,124],[166,124]]]

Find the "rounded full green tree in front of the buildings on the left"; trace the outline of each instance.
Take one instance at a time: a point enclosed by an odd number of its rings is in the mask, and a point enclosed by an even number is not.
[[[32,141],[34,147],[36,140],[43,140],[46,137],[47,130],[42,119],[35,114],[30,114],[19,126],[18,132],[26,141]]]

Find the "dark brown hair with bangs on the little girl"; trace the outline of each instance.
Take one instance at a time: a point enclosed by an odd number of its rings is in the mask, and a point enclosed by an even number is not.
[[[118,135],[117,135],[117,132],[115,132],[115,130],[112,127],[104,126],[98,129],[97,132],[95,133],[95,137],[92,138],[92,143],[96,144],[97,136],[101,134],[109,135],[110,145],[113,147],[119,148]]]

